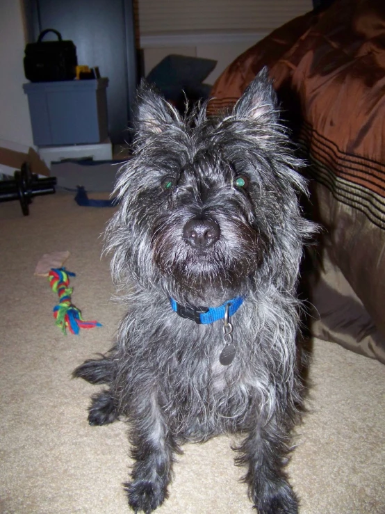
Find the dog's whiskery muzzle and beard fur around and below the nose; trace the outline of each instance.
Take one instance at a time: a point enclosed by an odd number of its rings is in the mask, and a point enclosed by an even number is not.
[[[240,220],[219,224],[220,239],[204,249],[193,248],[183,239],[181,225],[162,223],[155,230],[151,239],[154,265],[163,283],[177,289],[175,294],[181,299],[227,300],[243,294],[256,273],[262,254],[256,231]]]

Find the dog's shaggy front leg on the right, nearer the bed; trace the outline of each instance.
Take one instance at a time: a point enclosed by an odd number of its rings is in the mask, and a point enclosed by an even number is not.
[[[249,433],[237,451],[241,455],[236,463],[248,466],[244,480],[258,513],[297,514],[297,499],[283,469],[289,452],[288,431],[270,419]]]

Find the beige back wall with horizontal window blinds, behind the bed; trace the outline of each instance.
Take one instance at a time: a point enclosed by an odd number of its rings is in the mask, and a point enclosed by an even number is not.
[[[218,61],[213,84],[234,59],[273,29],[312,9],[311,0],[136,0],[145,74],[169,54]]]

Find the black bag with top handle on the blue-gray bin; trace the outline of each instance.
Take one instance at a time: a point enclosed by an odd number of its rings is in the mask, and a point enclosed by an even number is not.
[[[58,41],[42,39],[49,32],[58,36]],[[54,29],[42,31],[38,41],[28,43],[25,49],[24,73],[31,82],[72,80],[76,77],[76,47],[72,41],[63,41],[60,32]]]

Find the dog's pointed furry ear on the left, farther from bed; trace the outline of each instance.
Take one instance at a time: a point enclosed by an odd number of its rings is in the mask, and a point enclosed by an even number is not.
[[[155,86],[142,80],[136,94],[134,126],[139,138],[161,134],[170,125],[179,125],[181,117]]]

